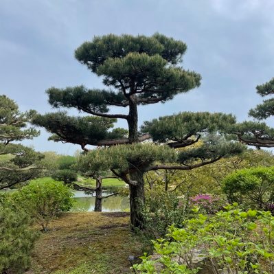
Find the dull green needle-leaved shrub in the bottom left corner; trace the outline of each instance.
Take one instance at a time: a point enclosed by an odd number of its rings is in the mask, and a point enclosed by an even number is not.
[[[30,253],[37,236],[30,229],[30,216],[14,212],[1,203],[0,273],[23,273],[30,265]]]

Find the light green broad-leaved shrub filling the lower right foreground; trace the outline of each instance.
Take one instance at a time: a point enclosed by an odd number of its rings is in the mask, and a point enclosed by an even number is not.
[[[197,273],[195,257],[209,264],[214,274],[273,273],[271,212],[244,212],[230,205],[226,209],[213,217],[198,214],[181,229],[170,227],[167,238],[153,241],[157,259],[145,254],[134,266],[136,273]]]

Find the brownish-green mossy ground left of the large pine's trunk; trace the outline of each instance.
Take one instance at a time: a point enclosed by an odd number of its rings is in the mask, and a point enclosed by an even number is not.
[[[128,255],[142,244],[130,231],[128,213],[66,212],[36,242],[27,273],[133,273]]]

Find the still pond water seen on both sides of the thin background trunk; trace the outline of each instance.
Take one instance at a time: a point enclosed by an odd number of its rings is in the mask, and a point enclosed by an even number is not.
[[[108,195],[104,193],[103,195]],[[71,212],[93,212],[95,197],[92,194],[85,194],[83,191],[74,192],[74,203]],[[129,198],[119,195],[111,196],[102,200],[102,212],[128,212]]]

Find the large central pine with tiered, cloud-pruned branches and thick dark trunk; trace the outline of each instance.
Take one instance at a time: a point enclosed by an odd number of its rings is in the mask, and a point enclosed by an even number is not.
[[[167,102],[179,93],[199,87],[201,76],[180,66],[186,48],[185,43],[162,34],[95,37],[78,47],[75,56],[97,76],[102,76],[109,89],[78,86],[47,90],[52,106],[75,108],[93,116],[69,117],[67,113],[59,112],[38,115],[34,119],[34,124],[44,126],[54,134],[51,137],[54,141],[79,144],[86,151],[87,145],[109,147],[89,152],[80,162],[88,170],[111,169],[115,176],[128,183],[133,227],[143,225],[141,203],[144,201],[145,172],[190,170],[241,150],[238,144],[228,144],[221,136],[227,123],[235,123],[231,115],[221,113],[181,113],[162,117],[146,122],[142,132],[138,131],[138,106]],[[111,106],[128,108],[128,114],[111,114]],[[128,135],[122,129],[110,131],[116,119],[127,122]],[[211,135],[217,131],[218,137]],[[167,146],[137,144],[151,137]],[[174,151],[174,148],[195,144],[202,137],[205,137],[203,146],[183,154]],[[176,163],[159,165],[158,162]]]

